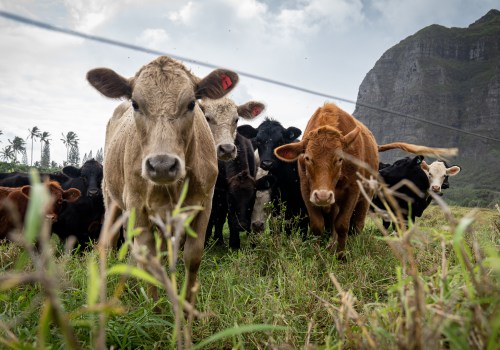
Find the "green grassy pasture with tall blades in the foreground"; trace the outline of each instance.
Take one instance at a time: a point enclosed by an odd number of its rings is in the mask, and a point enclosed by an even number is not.
[[[42,249],[38,266],[20,246],[2,244],[0,343],[179,348],[192,329],[192,342],[204,349],[495,349],[500,212],[442,210],[431,206],[412,229],[385,238],[379,219],[368,219],[361,234],[349,236],[346,262],[325,248],[327,237],[304,241],[282,231],[280,216],[269,218],[260,236],[242,235],[241,250],[205,250],[196,304],[203,317],[187,324],[167,293],[151,300],[145,274],[111,273],[133,265],[124,251],[105,255],[99,296],[97,249],[69,254],[53,237],[55,251]],[[224,235],[227,242],[227,225]],[[181,265],[165,270],[179,285]],[[40,280],[27,278],[35,271]]]

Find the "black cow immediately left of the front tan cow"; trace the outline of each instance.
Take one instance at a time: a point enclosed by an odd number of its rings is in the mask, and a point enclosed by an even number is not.
[[[77,244],[85,248],[99,239],[104,219],[103,167],[95,159],[89,159],[81,168],[69,165],[62,172],[67,180],[61,186],[64,189],[78,188],[82,195],[63,208],[59,220],[52,226],[52,232],[61,240],[74,236]]]

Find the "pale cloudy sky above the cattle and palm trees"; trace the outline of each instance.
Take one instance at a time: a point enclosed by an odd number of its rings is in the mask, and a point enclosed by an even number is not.
[[[377,60],[401,40],[431,24],[467,27],[499,7],[498,0],[0,0],[2,11],[53,26],[351,101]],[[68,131],[78,135],[81,158],[95,155],[120,101],[94,90],[87,71],[107,67],[130,77],[155,57],[0,17],[0,150],[37,126],[51,134],[52,160],[66,159],[60,139]],[[212,70],[184,64],[199,77]],[[229,97],[266,104],[249,123],[255,127],[267,116],[304,130],[325,102],[349,113],[355,108],[244,76]]]

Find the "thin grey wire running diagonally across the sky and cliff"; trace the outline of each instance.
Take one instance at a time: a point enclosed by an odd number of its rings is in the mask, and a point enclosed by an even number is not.
[[[121,41],[117,41],[117,40],[113,40],[113,39],[108,39],[108,38],[100,37],[100,36],[97,36],[97,35],[85,34],[85,33],[81,33],[81,32],[75,31],[75,30],[67,29],[67,28],[56,27],[56,26],[53,26],[53,25],[45,23],[45,22],[36,21],[36,20],[30,19],[30,18],[27,18],[27,17],[23,17],[23,16],[16,15],[14,13],[7,12],[7,11],[1,11],[0,10],[0,16],[4,17],[4,18],[7,18],[7,19],[10,19],[10,20],[13,20],[13,21],[16,21],[16,22],[21,22],[21,23],[24,23],[24,24],[27,24],[27,25],[30,25],[30,26],[34,26],[34,27],[38,27],[38,28],[50,30],[50,31],[53,31],[53,32],[63,33],[63,34],[71,35],[71,36],[76,36],[76,37],[84,38],[84,39],[87,39],[87,40],[97,41],[97,42],[108,44],[108,45],[118,46],[118,47],[122,47],[122,48],[129,49],[129,50],[134,50],[134,51],[139,51],[139,52],[144,52],[144,53],[153,54],[153,55],[159,55],[159,56],[163,56],[163,55],[164,56],[169,56],[169,57],[171,57],[173,59],[176,59],[178,61],[189,62],[189,63],[192,63],[192,64],[196,64],[196,65],[200,65],[200,66],[208,67],[208,68],[212,68],[212,69],[220,67],[220,66],[212,64],[212,63],[198,61],[198,60],[194,60],[194,59],[183,57],[183,56],[179,56],[179,55],[170,54],[170,53],[163,52],[163,51],[148,49],[148,48],[145,48],[145,47],[142,47],[142,46],[137,46],[137,45],[131,45],[131,44],[127,44],[127,43],[124,43],[124,42],[121,42]],[[471,132],[471,131],[467,131],[467,130],[462,130],[462,129],[459,129],[459,128],[456,128],[456,127],[453,127],[453,126],[449,126],[449,125],[446,125],[446,124],[438,123],[438,122],[435,122],[435,121],[432,121],[432,120],[426,120],[426,119],[415,117],[415,116],[412,116],[412,115],[408,115],[408,114],[404,114],[404,113],[399,113],[399,112],[391,111],[391,110],[388,110],[388,109],[385,109],[385,108],[382,108],[382,107],[373,106],[373,105],[370,105],[370,104],[367,104],[367,103],[356,102],[356,101],[353,101],[353,100],[350,100],[350,99],[347,99],[347,98],[342,98],[342,97],[338,97],[338,96],[326,94],[326,93],[323,93],[323,92],[320,92],[320,91],[314,91],[314,90],[306,89],[306,88],[303,88],[303,87],[300,87],[300,86],[297,86],[297,85],[292,85],[292,84],[284,83],[284,82],[281,82],[281,81],[278,81],[278,80],[274,80],[274,79],[270,79],[270,78],[266,78],[266,77],[261,77],[259,75],[242,72],[242,71],[239,71],[239,70],[236,70],[236,69],[233,69],[233,71],[235,71],[236,73],[238,73],[241,76],[244,76],[244,77],[247,77],[247,78],[251,78],[251,79],[255,79],[255,80],[260,80],[260,81],[263,81],[263,82],[266,82],[266,83],[269,83],[269,84],[274,84],[274,85],[286,87],[286,88],[289,88],[289,89],[297,90],[297,91],[304,92],[304,93],[311,94],[311,95],[316,95],[316,96],[325,97],[325,98],[329,98],[329,99],[333,99],[333,100],[337,100],[337,101],[351,103],[351,104],[354,104],[354,105],[357,105],[357,106],[360,106],[360,107],[365,107],[365,108],[368,108],[368,109],[372,109],[372,110],[375,110],[375,111],[378,111],[378,112],[383,112],[383,113],[397,115],[399,117],[416,120],[416,121],[419,121],[421,123],[431,124],[431,125],[434,125],[434,126],[437,126],[437,127],[440,127],[440,128],[444,128],[444,129],[448,129],[448,130],[460,132],[460,133],[463,133],[463,134],[467,134],[467,135],[479,137],[479,138],[482,138],[482,139],[485,139],[485,140],[500,142],[500,139],[497,139],[497,138],[494,138],[494,137],[477,134],[477,133],[474,133],[474,132]]]

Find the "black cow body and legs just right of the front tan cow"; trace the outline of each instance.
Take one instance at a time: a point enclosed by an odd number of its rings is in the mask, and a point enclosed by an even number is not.
[[[215,226],[214,240],[223,244],[222,229],[229,225],[229,246],[240,248],[240,232],[250,232],[255,193],[269,186],[267,178],[255,180],[256,164],[251,142],[236,135],[237,156],[226,162],[219,161],[219,175],[215,184],[212,212],[207,226],[205,242],[208,242]]]

